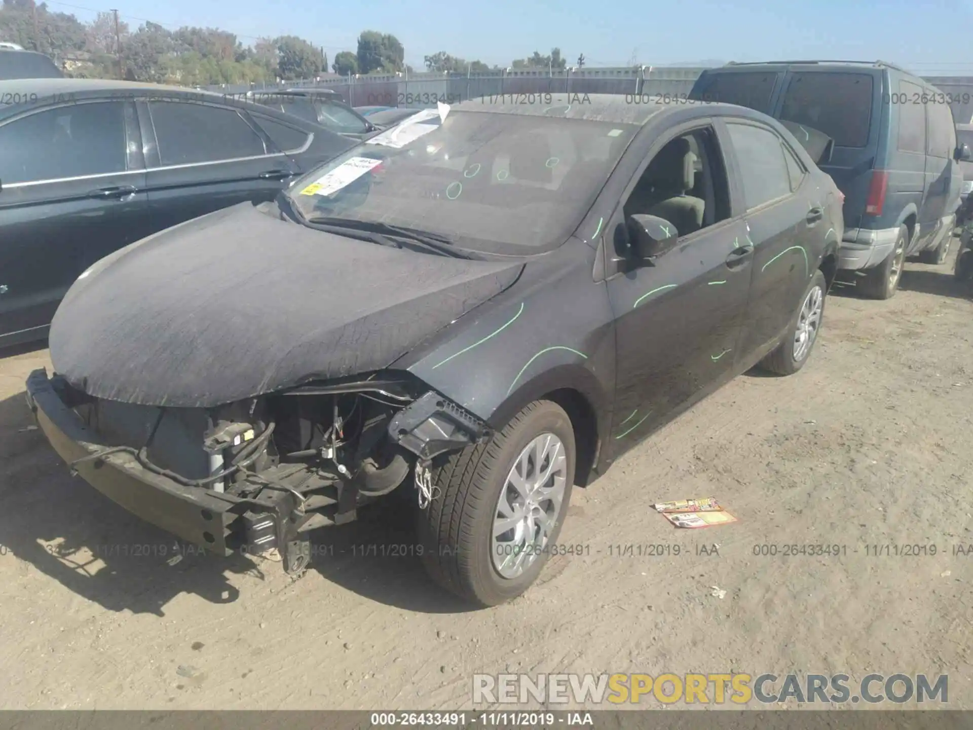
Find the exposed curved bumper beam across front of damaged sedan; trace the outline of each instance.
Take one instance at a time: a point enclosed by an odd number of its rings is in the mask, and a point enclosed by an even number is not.
[[[273,501],[243,499],[181,485],[125,452],[90,458],[110,446],[64,402],[46,370],[30,374],[26,397],[54,451],[74,464],[72,470],[91,487],[133,515],[220,555],[276,547],[288,571],[306,566],[306,536],[299,534],[306,515],[287,493]]]

